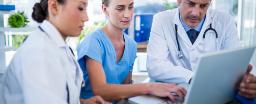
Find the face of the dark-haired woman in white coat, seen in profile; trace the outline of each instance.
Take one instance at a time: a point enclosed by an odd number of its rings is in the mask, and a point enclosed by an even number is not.
[[[67,0],[59,6],[55,26],[63,36],[79,36],[84,22],[88,21],[86,13],[87,0]]]

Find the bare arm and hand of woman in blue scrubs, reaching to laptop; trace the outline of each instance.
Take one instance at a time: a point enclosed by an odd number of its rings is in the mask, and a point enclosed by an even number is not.
[[[186,89],[176,84],[168,83],[143,83],[135,85],[107,84],[106,75],[101,63],[88,56],[86,56],[86,69],[93,95],[99,95],[106,101],[116,101],[122,98],[131,98],[152,93],[159,97],[169,97],[176,102],[176,99],[171,93],[176,93],[183,101],[187,93]]]

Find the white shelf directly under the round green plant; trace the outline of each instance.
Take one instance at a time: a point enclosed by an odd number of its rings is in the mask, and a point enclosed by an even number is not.
[[[20,32],[20,31],[34,31],[37,30],[38,26],[26,26],[26,27],[21,27],[21,28],[11,28],[9,27],[4,27],[0,28],[0,31],[11,31],[11,32]]]

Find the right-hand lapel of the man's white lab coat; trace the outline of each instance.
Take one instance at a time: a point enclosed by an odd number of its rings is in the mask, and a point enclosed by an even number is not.
[[[207,12],[206,12],[206,17],[205,17],[205,21],[204,21],[204,24],[202,26],[201,32],[198,35],[198,37],[197,37],[196,41],[194,42],[193,46],[191,47],[191,49],[194,49],[196,46],[199,45],[200,42],[203,42],[203,40],[204,40],[204,38],[203,38],[204,32],[205,32],[206,29],[210,28],[210,24],[211,23],[212,23],[212,18],[211,18],[210,11],[208,9]],[[205,34],[205,35],[207,35],[207,34]]]

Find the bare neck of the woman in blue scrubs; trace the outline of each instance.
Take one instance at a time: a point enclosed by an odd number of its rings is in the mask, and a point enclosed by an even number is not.
[[[111,41],[124,41],[124,29],[118,28],[111,23],[101,29]]]

